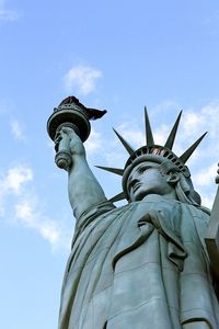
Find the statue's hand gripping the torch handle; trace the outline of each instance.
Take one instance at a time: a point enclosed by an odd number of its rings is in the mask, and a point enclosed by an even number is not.
[[[85,156],[83,143],[76,132],[70,127],[62,127],[59,132],[57,132],[55,137],[56,151],[59,150],[60,144],[65,144],[65,148],[72,155],[72,157]]]

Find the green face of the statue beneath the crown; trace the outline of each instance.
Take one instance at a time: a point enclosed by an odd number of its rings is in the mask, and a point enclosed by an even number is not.
[[[168,175],[160,172],[159,167],[159,163],[148,161],[132,169],[127,180],[127,191],[131,201],[140,201],[148,194],[174,197],[175,190],[169,184]]]

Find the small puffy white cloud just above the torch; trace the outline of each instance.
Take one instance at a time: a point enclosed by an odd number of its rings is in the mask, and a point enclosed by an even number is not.
[[[102,72],[90,66],[79,65],[72,67],[64,77],[65,88],[68,92],[73,89],[87,95],[94,91],[96,79],[102,77]]]

